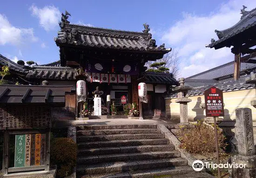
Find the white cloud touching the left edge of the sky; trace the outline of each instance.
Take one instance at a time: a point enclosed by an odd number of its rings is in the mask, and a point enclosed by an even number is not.
[[[33,28],[18,28],[12,26],[4,14],[0,14],[0,45],[21,45],[25,42],[34,42]]]

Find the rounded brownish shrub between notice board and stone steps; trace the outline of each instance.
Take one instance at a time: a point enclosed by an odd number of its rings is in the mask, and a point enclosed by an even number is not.
[[[51,143],[51,164],[57,165],[57,175],[67,177],[76,165],[76,143],[71,138],[54,138]]]

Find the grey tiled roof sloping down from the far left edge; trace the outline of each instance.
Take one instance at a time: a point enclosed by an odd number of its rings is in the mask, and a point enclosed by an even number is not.
[[[0,54],[0,66],[8,66],[11,71],[20,73],[20,74],[28,72],[28,66],[21,66],[10,59],[7,59],[1,54]]]

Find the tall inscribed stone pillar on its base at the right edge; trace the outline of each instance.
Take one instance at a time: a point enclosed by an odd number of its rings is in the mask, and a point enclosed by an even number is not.
[[[238,155],[231,157],[232,164],[244,164],[245,168],[233,168],[232,178],[255,178],[256,155],[253,137],[252,114],[249,108],[236,109],[236,139]]]

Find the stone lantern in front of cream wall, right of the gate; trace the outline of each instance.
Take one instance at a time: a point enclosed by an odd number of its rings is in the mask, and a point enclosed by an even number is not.
[[[178,99],[176,99],[175,102],[180,103],[180,122],[189,123],[188,103],[192,100],[188,98],[188,91],[192,88],[190,86],[184,86],[184,78],[180,78],[179,83],[180,86],[177,86],[173,89],[175,93],[178,93]]]

